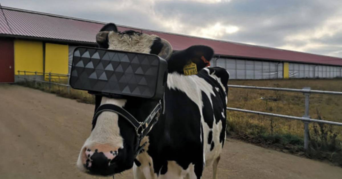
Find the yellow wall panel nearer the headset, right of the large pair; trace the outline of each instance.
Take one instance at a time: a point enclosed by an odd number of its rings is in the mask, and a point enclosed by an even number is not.
[[[45,73],[68,74],[68,45],[45,44]]]

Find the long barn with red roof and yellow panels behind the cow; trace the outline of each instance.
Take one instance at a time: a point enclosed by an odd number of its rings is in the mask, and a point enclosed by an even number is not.
[[[68,74],[76,46],[96,46],[95,35],[104,22],[9,7],[0,13],[0,83],[15,81],[18,71]],[[208,45],[215,51],[213,66],[226,68],[231,79],[342,77],[342,58],[211,40],[135,27],[156,34],[174,50]],[[22,74],[22,73],[21,73]]]

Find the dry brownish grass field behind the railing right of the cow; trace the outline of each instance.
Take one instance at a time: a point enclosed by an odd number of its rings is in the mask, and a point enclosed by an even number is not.
[[[231,80],[232,85],[265,86],[279,88],[311,87],[315,90],[342,91],[342,79],[291,79],[291,80]],[[264,98],[263,100],[261,98]],[[228,107],[236,107],[263,112],[303,116],[305,96],[302,93],[229,88]],[[327,94],[310,95],[310,116],[318,119],[317,111],[323,120],[342,122],[342,96]],[[245,133],[290,133],[303,137],[303,122],[275,117],[228,111],[231,130]],[[310,125],[313,131],[313,125]],[[342,127],[333,130],[342,132]],[[339,135],[338,139],[342,139]]]

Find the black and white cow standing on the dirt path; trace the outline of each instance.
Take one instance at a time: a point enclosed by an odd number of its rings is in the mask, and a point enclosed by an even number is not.
[[[171,55],[172,47],[166,40],[134,31],[118,32],[114,24],[101,29],[97,43],[103,48],[157,54],[167,59],[165,113],[141,141],[147,141],[147,145],[136,158],[136,133],[132,125],[116,113],[101,113],[81,148],[78,168],[85,173],[108,176],[133,167],[135,179],[199,179],[204,167],[211,165],[213,178],[217,179],[226,137],[229,73],[223,68],[206,67],[213,50],[199,45]],[[196,63],[198,74],[185,76],[183,67],[190,61]],[[103,97],[101,104],[122,106],[143,121],[157,102]]]

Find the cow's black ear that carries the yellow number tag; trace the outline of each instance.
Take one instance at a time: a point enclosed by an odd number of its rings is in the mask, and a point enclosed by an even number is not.
[[[168,60],[169,72],[179,72],[183,74],[183,68],[188,63],[195,63],[197,71],[206,66],[210,66],[210,60],[214,55],[214,50],[205,45],[194,45],[185,50],[177,51]]]

